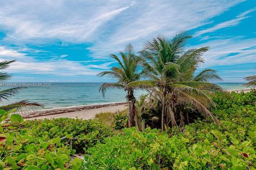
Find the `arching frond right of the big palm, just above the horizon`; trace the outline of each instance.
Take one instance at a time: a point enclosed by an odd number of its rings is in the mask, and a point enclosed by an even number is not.
[[[213,82],[213,81],[219,81],[222,80],[220,76],[218,76],[216,70],[213,69],[204,69],[200,71],[199,74],[193,78],[193,81],[197,82]]]

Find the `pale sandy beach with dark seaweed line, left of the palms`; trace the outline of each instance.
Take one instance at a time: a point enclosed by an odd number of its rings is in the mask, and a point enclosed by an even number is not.
[[[98,113],[104,112],[118,112],[126,109],[125,103],[112,103],[112,104],[97,104],[86,105],[82,107],[72,107],[63,109],[52,109],[36,112],[30,115],[23,116],[26,120],[44,119],[44,118],[82,118],[84,120],[92,119]]]

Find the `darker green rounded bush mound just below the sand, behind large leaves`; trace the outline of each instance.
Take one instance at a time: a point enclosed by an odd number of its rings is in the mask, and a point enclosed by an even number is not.
[[[77,153],[84,152],[84,149],[113,134],[111,128],[99,121],[72,118],[29,121],[23,131],[46,139],[67,137],[62,142],[68,142],[70,138],[74,138],[72,146]]]

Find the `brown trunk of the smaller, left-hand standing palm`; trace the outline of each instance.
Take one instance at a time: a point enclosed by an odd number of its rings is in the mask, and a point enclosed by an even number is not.
[[[135,126],[135,101],[133,96],[133,90],[127,92],[127,128]]]

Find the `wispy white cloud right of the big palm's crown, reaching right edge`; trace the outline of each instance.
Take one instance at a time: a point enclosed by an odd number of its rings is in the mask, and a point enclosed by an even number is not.
[[[255,42],[255,38],[242,39],[242,37],[236,37],[212,40],[205,44],[197,45],[196,47],[210,46],[209,51],[203,56],[205,63],[202,67],[235,65],[239,63],[255,63]],[[193,46],[193,48],[195,48],[195,46]]]

